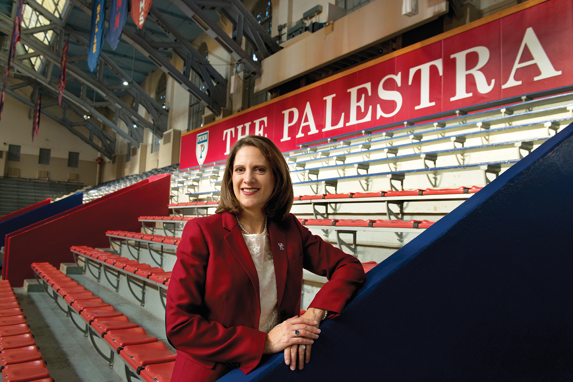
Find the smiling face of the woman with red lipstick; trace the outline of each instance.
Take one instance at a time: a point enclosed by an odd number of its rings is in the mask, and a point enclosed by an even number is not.
[[[260,213],[274,189],[273,170],[254,146],[237,151],[233,163],[233,191],[242,209]]]

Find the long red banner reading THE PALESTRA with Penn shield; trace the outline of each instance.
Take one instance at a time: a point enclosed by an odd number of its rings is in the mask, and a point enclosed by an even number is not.
[[[573,2],[540,3],[184,134],[180,168],[224,160],[247,134],[267,136],[287,152],[321,138],[571,85],[572,35]]]

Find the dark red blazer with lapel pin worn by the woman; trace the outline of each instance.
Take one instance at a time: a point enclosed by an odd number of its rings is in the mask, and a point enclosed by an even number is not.
[[[299,315],[303,268],[329,280],[310,307],[342,311],[364,281],[360,262],[293,214],[268,229],[279,321]],[[195,218],[182,237],[167,291],[167,338],[178,349],[172,381],[216,380],[233,367],[246,374],[261,360],[266,334],[256,329],[258,275],[237,219],[226,212]]]

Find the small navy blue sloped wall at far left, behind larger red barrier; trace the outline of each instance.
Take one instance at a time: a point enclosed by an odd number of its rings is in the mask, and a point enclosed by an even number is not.
[[[57,202],[50,203],[17,217],[0,222],[0,246],[4,246],[6,234],[54,216],[60,212],[69,210],[72,207],[79,206],[82,204],[83,199],[84,193],[76,192],[75,194],[58,200]]]

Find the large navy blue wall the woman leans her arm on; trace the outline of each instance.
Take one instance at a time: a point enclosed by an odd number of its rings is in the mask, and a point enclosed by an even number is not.
[[[303,371],[221,381],[573,380],[573,124],[367,273]]]

